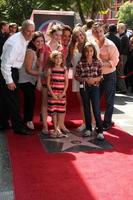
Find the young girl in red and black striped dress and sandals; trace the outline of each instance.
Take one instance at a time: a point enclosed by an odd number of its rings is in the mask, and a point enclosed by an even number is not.
[[[52,116],[54,132],[51,137],[65,137],[62,132],[69,132],[64,126],[66,113],[66,91],[68,72],[63,66],[63,55],[55,50],[51,53],[52,66],[48,69],[48,113]]]

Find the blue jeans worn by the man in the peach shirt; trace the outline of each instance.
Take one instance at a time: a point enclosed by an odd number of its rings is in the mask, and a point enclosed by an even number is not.
[[[105,114],[103,125],[110,125],[114,110],[114,98],[116,90],[116,72],[105,74],[102,83],[100,84],[100,96],[105,95]]]

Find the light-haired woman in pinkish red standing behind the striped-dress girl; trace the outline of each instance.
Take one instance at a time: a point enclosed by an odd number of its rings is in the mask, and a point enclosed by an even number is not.
[[[48,40],[47,43],[44,44],[42,50],[41,50],[41,55],[40,55],[40,61],[41,61],[41,68],[42,71],[45,72],[45,75],[47,74],[47,69],[49,65],[49,56],[51,51],[53,50],[62,50],[62,45],[60,44],[61,42],[61,36],[62,36],[62,29],[59,25],[53,25],[50,27],[48,30],[48,35],[50,37],[50,40]],[[48,124],[47,124],[47,80],[46,77],[44,77],[42,80],[42,103],[41,103],[41,119],[43,122],[43,128],[42,128],[42,134],[47,135],[48,134]]]

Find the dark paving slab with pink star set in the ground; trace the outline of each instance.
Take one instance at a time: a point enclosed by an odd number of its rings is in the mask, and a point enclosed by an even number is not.
[[[47,136],[41,136],[41,140],[48,152],[79,152],[112,148],[106,140],[98,141],[94,137],[82,137],[74,131],[71,131],[67,138],[53,139]]]

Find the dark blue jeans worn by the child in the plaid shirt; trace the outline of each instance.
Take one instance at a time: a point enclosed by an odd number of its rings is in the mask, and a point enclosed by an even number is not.
[[[84,107],[86,129],[92,131],[91,108],[90,108],[90,102],[91,102],[94,117],[96,120],[97,131],[99,133],[103,132],[101,113],[100,113],[99,87],[86,85],[85,88],[80,88],[80,94],[82,97],[82,102]]]

